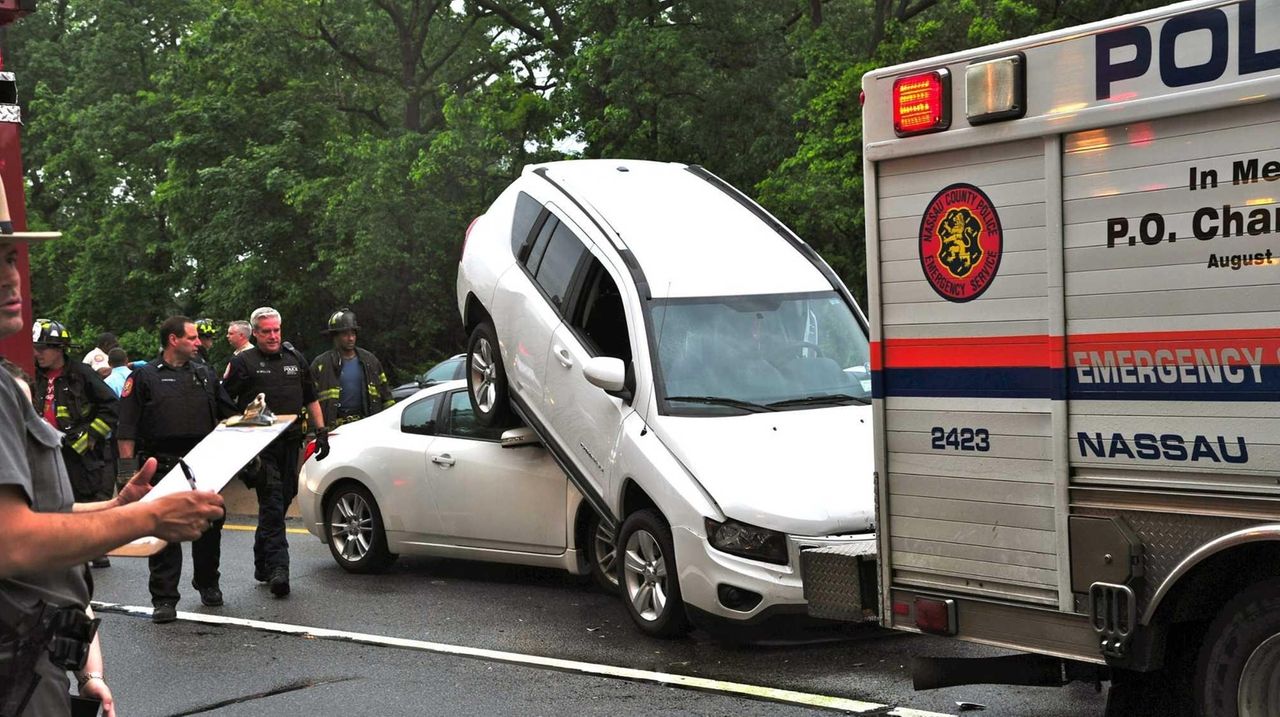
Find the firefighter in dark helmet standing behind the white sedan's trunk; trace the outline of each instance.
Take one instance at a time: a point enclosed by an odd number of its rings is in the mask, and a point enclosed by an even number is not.
[[[311,362],[311,373],[320,391],[324,425],[329,428],[358,421],[396,402],[387,385],[381,361],[356,346],[358,330],[355,311],[334,311],[329,316],[329,326],[321,332],[333,338],[333,348]]]

